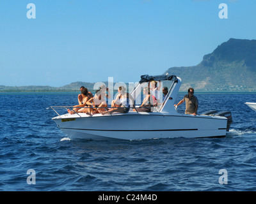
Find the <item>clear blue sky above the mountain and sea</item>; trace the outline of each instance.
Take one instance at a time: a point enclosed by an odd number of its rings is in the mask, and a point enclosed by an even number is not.
[[[0,0],[0,85],[138,82],[256,39],[255,19],[254,0]]]

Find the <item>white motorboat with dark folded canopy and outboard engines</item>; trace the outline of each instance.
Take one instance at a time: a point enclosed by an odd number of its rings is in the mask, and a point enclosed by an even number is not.
[[[164,84],[169,82],[167,97],[163,103],[153,107],[153,112],[137,112],[136,107],[127,113],[109,113],[86,115],[86,113],[69,113],[60,115],[56,108],[70,106],[50,106],[57,117],[52,118],[70,140],[144,140],[152,138],[205,138],[226,136],[232,117],[230,112],[208,112],[202,115],[179,113],[174,107],[179,92],[181,79],[175,75],[142,75],[141,80],[130,92],[136,99],[141,96],[143,87],[155,80]],[[166,84],[164,84],[166,85]],[[48,109],[49,109],[48,108]],[[214,114],[216,113],[216,114]],[[223,115],[223,116],[220,116]],[[230,122],[228,122],[230,120]]]

